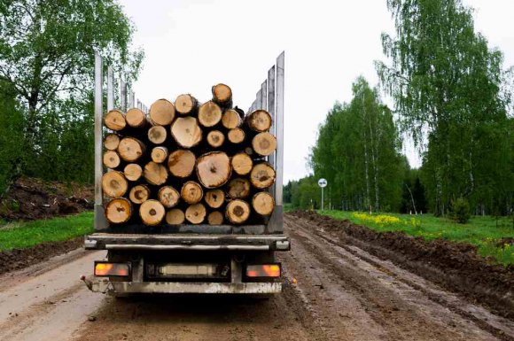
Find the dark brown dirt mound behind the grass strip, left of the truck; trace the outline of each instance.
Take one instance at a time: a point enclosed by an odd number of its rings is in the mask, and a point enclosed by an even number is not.
[[[44,182],[19,178],[0,202],[0,218],[32,221],[80,213],[94,205],[94,188],[77,183]]]

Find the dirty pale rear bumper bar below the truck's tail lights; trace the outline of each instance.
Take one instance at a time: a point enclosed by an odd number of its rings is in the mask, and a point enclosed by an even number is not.
[[[107,294],[132,293],[199,293],[199,294],[274,294],[282,291],[282,283],[173,283],[173,282],[109,282],[95,280],[91,291]]]

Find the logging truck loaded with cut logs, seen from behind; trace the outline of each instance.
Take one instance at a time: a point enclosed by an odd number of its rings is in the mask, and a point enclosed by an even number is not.
[[[91,291],[269,295],[282,291],[284,52],[247,111],[228,85],[150,108],[95,63],[95,232]]]

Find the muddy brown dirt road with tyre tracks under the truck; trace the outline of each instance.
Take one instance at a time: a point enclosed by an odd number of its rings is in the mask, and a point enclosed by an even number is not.
[[[77,250],[0,276],[0,340],[514,340],[512,320],[323,226],[286,216],[285,229],[274,298],[109,298],[78,281],[105,254]]]

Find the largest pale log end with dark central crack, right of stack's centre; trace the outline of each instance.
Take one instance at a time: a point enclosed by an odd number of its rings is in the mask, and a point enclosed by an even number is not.
[[[227,183],[232,173],[230,159],[222,151],[211,151],[197,161],[199,182],[207,189],[214,189]]]

